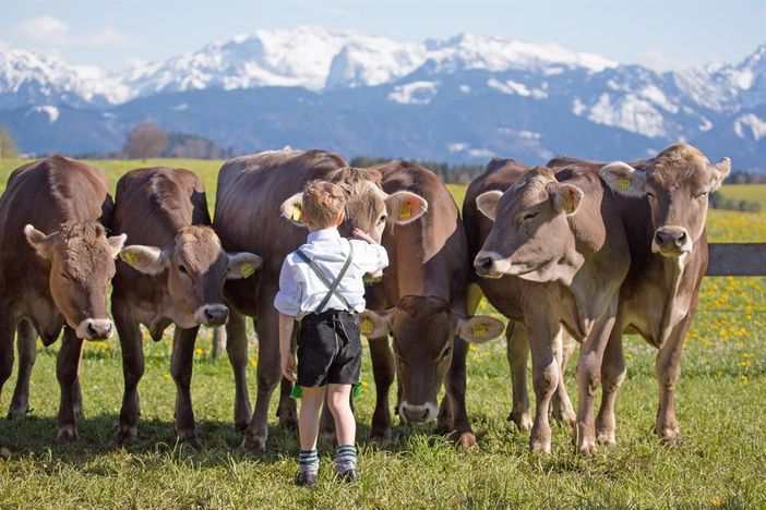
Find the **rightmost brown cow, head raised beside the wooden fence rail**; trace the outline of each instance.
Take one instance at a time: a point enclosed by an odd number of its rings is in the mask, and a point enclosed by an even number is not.
[[[675,144],[653,159],[631,165],[617,161],[605,166],[570,158],[556,158],[549,165],[600,172],[615,191],[631,247],[631,270],[620,289],[617,323],[605,355],[603,397],[597,418],[599,441],[615,442],[614,399],[625,378],[625,332],[641,335],[659,350],[655,433],[674,442],[680,438],[675,384],[681,354],[707,269],[708,195],[720,187],[731,161],[723,158],[711,165],[698,149]]]

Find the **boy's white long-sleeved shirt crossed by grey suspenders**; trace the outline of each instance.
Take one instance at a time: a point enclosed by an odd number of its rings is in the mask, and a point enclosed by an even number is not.
[[[354,243],[351,264],[327,304],[319,312],[347,309],[346,304],[337,296],[338,292],[346,298],[356,312],[363,312],[362,277],[366,272],[375,272],[388,266],[388,254],[383,246],[370,244],[367,241],[344,239],[335,228],[311,232],[300,251],[308,255],[331,281],[334,281],[346,262],[350,250],[349,243]],[[279,292],[274,299],[274,307],[300,320],[316,309],[328,290],[309,264],[292,252],[285,257],[282,265]]]

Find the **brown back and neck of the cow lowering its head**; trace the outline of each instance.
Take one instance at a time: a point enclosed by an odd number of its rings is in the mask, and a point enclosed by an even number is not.
[[[368,307],[396,306],[405,295],[434,295],[452,305],[465,296],[468,243],[452,195],[430,170],[407,161],[373,168],[383,177],[383,191],[408,191],[428,202],[428,212],[409,224],[388,223],[382,244],[390,266],[383,280],[370,288]]]

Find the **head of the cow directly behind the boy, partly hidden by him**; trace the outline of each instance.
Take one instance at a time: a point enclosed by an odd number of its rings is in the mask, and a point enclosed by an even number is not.
[[[346,194],[345,219],[338,227],[346,238],[351,236],[354,229],[360,229],[380,243],[386,224],[411,223],[428,210],[428,202],[420,195],[407,191],[385,193],[376,170],[346,167],[331,172],[326,180]],[[306,227],[301,221],[301,196],[302,193],[296,193],[286,199],[280,210],[291,223]],[[370,277],[381,276],[382,272]]]

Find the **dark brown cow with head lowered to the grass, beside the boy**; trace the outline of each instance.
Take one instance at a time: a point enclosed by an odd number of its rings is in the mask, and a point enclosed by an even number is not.
[[[415,221],[386,227],[382,243],[390,266],[383,270],[383,280],[366,294],[362,327],[368,328],[378,392],[370,436],[391,437],[388,389],[396,374],[397,409],[406,422],[435,420],[436,393],[445,382],[447,397],[438,430],[454,430],[460,445],[471,448],[476,438],[465,405],[467,344],[463,339],[490,340],[502,332],[503,324],[466,314],[471,272],[468,246],[455,202],[439,178],[407,161],[372,170],[383,175],[383,191],[416,193],[426,198],[429,210]]]

